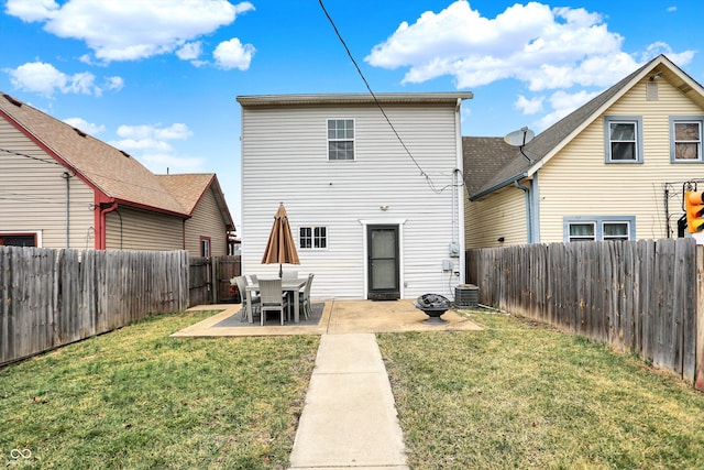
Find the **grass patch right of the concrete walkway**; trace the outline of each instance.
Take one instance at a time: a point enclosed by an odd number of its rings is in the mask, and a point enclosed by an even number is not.
[[[377,335],[418,469],[704,469],[704,394],[515,317]]]

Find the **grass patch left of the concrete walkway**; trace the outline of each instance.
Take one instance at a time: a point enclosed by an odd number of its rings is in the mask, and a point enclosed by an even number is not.
[[[0,466],[285,468],[319,338],[169,338],[211,315],[153,317],[0,369]]]

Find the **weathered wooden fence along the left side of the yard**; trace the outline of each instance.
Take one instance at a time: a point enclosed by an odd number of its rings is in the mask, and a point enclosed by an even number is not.
[[[0,364],[186,308],[186,251],[0,247]]]

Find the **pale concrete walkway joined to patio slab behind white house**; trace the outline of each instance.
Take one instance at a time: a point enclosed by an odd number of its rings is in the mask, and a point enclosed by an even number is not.
[[[290,469],[407,469],[386,368],[376,332],[476,331],[465,316],[449,310],[444,325],[428,318],[411,300],[326,300],[319,325],[216,327],[240,305],[200,306],[223,311],[174,337],[321,335],[316,368],[290,455]]]

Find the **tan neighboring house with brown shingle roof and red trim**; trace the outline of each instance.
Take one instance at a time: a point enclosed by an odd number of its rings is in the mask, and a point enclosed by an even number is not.
[[[215,174],[154,175],[129,154],[0,97],[0,244],[228,253]]]

